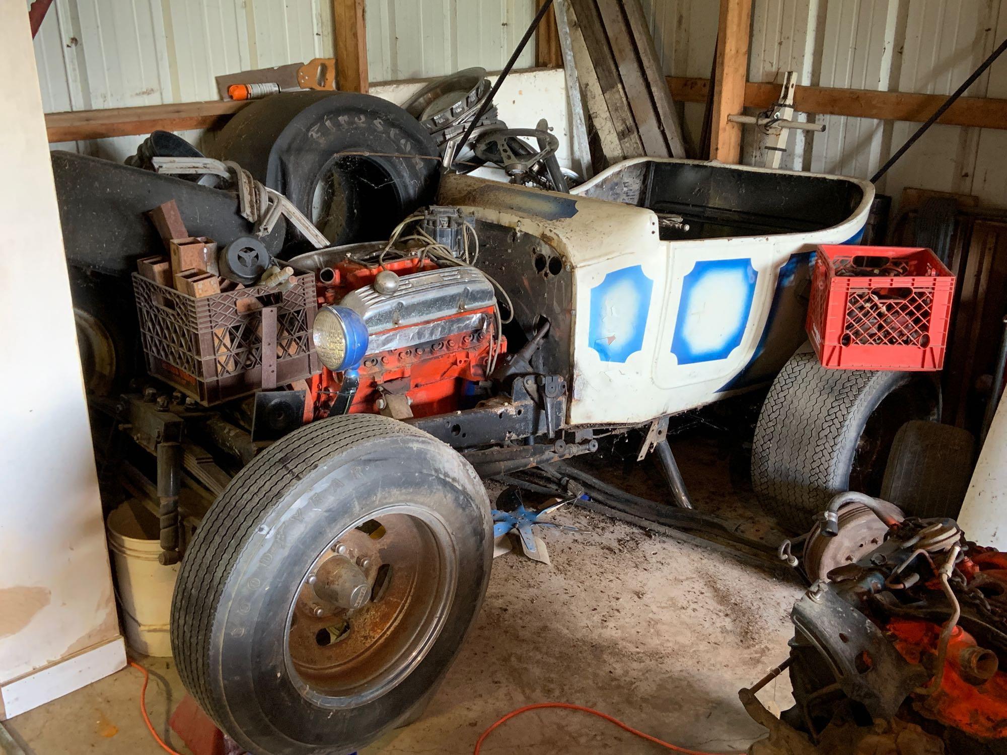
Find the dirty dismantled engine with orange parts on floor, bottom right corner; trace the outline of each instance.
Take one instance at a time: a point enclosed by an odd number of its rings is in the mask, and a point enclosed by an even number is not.
[[[903,518],[858,493],[834,499],[827,537],[843,536],[844,505],[870,507],[887,532],[794,606],[774,671],[789,666],[796,705],[776,720],[755,699],[774,674],[741,691],[770,731],[749,752],[1007,753],[1007,554],[969,543],[954,519]]]

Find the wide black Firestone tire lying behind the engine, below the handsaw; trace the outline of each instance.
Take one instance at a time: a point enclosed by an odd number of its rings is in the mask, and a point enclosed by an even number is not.
[[[437,192],[440,153],[419,121],[369,95],[291,92],[242,109],[213,145],[285,194],[332,246],[387,239]]]

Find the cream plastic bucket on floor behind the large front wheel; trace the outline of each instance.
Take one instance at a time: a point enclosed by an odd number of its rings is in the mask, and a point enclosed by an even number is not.
[[[161,566],[158,519],[130,498],[109,514],[109,549],[119,583],[126,641],[144,655],[171,655],[171,592],[178,565]]]

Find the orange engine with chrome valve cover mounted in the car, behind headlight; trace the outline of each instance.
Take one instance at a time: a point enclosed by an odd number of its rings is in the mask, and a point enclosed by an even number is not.
[[[484,393],[507,348],[493,285],[465,263],[467,251],[456,257],[433,237],[419,241],[301,259],[316,273],[319,303],[314,341],[323,369],[310,383],[313,419],[428,417],[467,408]]]

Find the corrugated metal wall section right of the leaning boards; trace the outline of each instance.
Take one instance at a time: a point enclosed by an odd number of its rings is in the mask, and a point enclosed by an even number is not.
[[[717,36],[711,0],[642,0],[669,76],[708,77]],[[748,77],[818,87],[951,94],[1007,35],[1007,0],[754,0]],[[967,93],[1007,97],[1007,59]],[[750,111],[754,115],[754,111]],[[685,107],[697,136],[702,106]],[[810,114],[815,118],[815,114]],[[804,120],[805,116],[799,116]],[[918,124],[819,116],[823,134],[790,135],[784,167],[869,178]],[[744,160],[761,165],[762,139],[745,129]],[[977,194],[1007,205],[1007,132],[934,126],[879,189]]]

